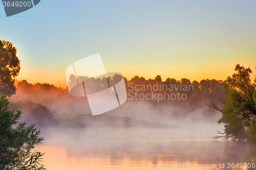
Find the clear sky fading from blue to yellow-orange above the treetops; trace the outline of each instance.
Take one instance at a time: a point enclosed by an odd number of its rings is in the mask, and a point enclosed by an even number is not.
[[[100,53],[106,72],[154,79],[224,80],[236,64],[256,75],[256,1],[42,0],[6,17],[18,80],[66,87],[66,68]]]

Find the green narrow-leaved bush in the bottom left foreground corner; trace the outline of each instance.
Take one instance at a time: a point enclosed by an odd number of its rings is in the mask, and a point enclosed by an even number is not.
[[[35,124],[18,122],[22,111],[9,110],[9,99],[0,94],[0,169],[46,169],[40,163],[45,153],[34,151],[34,145],[44,140]]]

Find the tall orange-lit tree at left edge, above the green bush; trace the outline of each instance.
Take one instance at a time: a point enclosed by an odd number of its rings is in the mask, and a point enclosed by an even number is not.
[[[20,61],[16,56],[17,50],[9,41],[0,40],[0,93],[8,96],[15,94],[15,77],[20,70]]]

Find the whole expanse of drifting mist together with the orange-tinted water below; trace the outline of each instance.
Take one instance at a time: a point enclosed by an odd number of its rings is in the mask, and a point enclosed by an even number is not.
[[[23,95],[19,90],[11,101],[23,110],[21,120],[41,129],[45,141],[36,149],[46,152],[44,164],[50,170],[148,169],[148,163],[166,162],[217,164],[219,169],[219,163],[255,161],[252,145],[212,139],[217,131],[223,132],[224,126],[217,123],[221,112],[205,106],[199,97],[128,99],[114,110],[92,116],[87,98],[70,96],[63,89],[42,95]],[[24,104],[26,100],[34,103]]]

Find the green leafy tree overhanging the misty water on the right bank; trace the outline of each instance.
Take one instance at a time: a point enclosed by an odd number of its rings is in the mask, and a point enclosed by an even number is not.
[[[251,82],[250,68],[237,64],[234,70],[236,73],[224,81],[224,107],[215,108],[222,112],[218,123],[224,124],[221,134],[225,135],[215,138],[256,142],[256,79]]]

